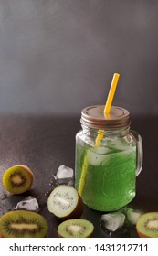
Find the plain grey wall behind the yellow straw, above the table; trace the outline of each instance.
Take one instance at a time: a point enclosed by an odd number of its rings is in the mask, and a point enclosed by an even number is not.
[[[157,0],[0,0],[0,113],[157,114]]]

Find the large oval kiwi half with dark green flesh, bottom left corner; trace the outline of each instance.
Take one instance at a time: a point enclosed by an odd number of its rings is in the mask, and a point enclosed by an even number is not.
[[[5,238],[44,238],[47,229],[43,216],[26,210],[7,212],[0,220],[0,233]]]

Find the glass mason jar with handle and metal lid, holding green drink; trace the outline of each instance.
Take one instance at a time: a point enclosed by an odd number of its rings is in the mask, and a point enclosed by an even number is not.
[[[113,211],[132,201],[136,176],[142,170],[142,139],[130,130],[130,112],[111,106],[82,110],[82,130],[76,135],[75,187],[83,202],[100,211]]]

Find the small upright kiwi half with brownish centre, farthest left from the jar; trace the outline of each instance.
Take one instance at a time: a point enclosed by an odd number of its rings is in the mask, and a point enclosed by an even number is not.
[[[32,185],[33,173],[26,165],[15,165],[7,169],[3,176],[4,187],[12,194],[22,194]]]

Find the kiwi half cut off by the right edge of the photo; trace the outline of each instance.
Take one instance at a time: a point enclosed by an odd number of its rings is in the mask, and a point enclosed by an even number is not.
[[[136,230],[140,238],[158,238],[158,212],[147,212],[137,220]]]

